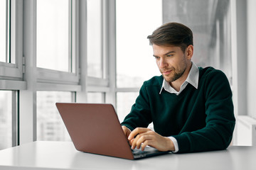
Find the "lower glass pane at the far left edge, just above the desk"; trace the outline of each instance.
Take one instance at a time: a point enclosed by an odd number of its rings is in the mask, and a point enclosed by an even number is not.
[[[0,149],[12,147],[11,91],[0,91]]]

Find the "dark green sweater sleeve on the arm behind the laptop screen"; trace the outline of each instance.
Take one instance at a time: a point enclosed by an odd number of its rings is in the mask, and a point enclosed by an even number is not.
[[[144,82],[142,88],[139,90],[139,96],[132,106],[131,112],[124,118],[121,125],[125,125],[129,130],[134,130],[137,127],[148,127],[149,123],[152,122],[148,98]]]

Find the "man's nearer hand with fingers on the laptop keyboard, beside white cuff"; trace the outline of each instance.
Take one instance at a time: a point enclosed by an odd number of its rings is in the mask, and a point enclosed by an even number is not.
[[[124,132],[124,134],[127,135],[128,133]],[[149,145],[159,151],[174,151],[174,143],[168,137],[163,137],[148,128],[134,129],[129,132],[128,140],[132,145],[132,149],[142,147],[143,151],[146,145]]]

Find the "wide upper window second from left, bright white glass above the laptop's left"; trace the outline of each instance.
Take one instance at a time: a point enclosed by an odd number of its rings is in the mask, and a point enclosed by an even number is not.
[[[75,11],[78,11],[78,1],[37,1],[35,40],[38,82],[79,84],[76,44],[79,25]]]

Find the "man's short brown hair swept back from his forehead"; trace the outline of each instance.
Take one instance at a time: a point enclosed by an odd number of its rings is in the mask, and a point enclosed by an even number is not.
[[[150,45],[174,45],[185,52],[188,45],[193,45],[193,33],[181,23],[165,23],[149,35]]]

